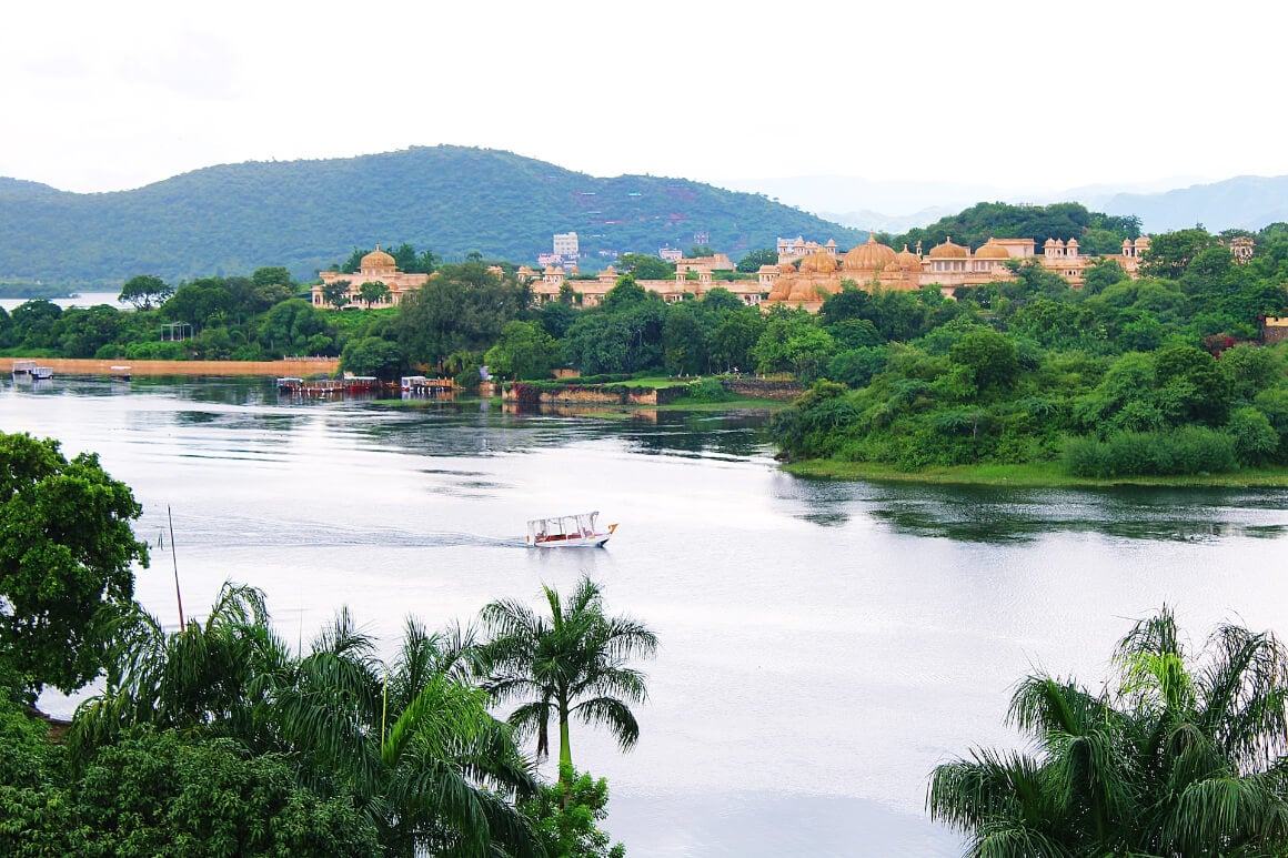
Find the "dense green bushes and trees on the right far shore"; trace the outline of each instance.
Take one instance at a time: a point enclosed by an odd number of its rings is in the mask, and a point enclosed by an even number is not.
[[[773,437],[815,473],[1282,473],[1288,368],[1262,323],[1288,307],[1288,225],[1257,233],[1247,264],[1230,237],[1158,236],[1140,280],[1105,263],[1081,290],[1028,265],[956,300],[845,290],[797,323],[855,339],[797,374],[814,385]]]

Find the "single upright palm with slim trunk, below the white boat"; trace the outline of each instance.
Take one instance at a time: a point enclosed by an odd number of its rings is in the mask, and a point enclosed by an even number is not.
[[[639,724],[629,703],[643,702],[647,691],[644,674],[627,661],[653,656],[657,636],[635,620],[605,616],[603,594],[589,577],[567,605],[553,587],[542,591],[549,617],[511,599],[486,605],[482,617],[491,640],[480,652],[492,696],[524,701],[509,720],[524,734],[536,733],[538,760],[550,754],[550,719],[558,720],[564,779],[572,772],[572,718],[607,727],[623,751],[635,746]]]

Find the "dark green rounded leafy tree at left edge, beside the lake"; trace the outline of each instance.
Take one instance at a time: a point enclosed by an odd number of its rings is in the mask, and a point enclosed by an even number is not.
[[[107,627],[134,594],[142,508],[94,453],[0,434],[0,661],[39,694],[73,692],[103,666]]]

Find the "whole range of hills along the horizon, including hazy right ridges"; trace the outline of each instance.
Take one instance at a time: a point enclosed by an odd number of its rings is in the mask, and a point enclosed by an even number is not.
[[[535,264],[556,232],[578,233],[586,268],[607,264],[612,253],[697,243],[738,259],[779,237],[835,238],[844,249],[866,240],[868,229],[903,233],[979,201],[1077,201],[1139,215],[1148,232],[1288,222],[1288,176],[1166,192],[1078,188],[1027,200],[985,186],[858,176],[733,184],[742,189],[640,175],[605,179],[453,146],[213,166],[115,193],[0,178],[0,282],[115,289],[142,273],[178,282],[249,274],[263,265],[285,265],[309,280],[355,247],[403,242],[447,259],[479,251]],[[894,201],[916,207],[881,214]]]

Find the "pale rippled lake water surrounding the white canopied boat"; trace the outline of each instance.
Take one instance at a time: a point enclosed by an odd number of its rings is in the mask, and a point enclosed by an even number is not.
[[[0,430],[100,453],[142,537],[173,511],[176,555],[138,578],[167,624],[174,562],[189,615],[232,578],[289,640],[348,604],[389,647],[407,615],[440,626],[594,576],[662,644],[632,752],[572,733],[636,857],[956,855],[927,774],[1018,741],[1024,674],[1099,688],[1164,602],[1195,645],[1222,620],[1288,629],[1284,492],[815,482],[775,468],[761,424],[298,405],[269,380],[0,392]],[[587,509],[621,523],[605,549],[520,546],[526,519]]]

